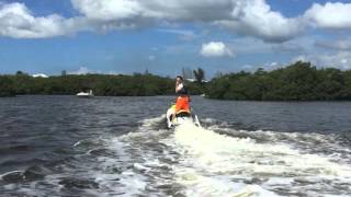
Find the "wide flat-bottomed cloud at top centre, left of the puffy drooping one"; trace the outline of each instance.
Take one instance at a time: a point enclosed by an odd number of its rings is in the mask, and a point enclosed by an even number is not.
[[[89,19],[129,22],[144,19],[168,21],[213,21],[230,12],[231,0],[71,0],[73,8]],[[213,12],[222,10],[223,12]]]

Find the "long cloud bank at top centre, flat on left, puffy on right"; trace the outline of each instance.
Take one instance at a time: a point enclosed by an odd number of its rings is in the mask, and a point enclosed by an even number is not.
[[[101,28],[140,27],[166,22],[202,22],[268,42],[287,40],[303,30],[265,0],[71,0],[73,8]]]

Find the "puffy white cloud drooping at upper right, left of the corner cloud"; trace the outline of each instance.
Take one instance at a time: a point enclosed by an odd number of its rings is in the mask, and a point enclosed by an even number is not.
[[[236,1],[231,18],[216,24],[273,43],[288,40],[305,28],[303,20],[284,18],[280,12],[272,11],[264,0]]]

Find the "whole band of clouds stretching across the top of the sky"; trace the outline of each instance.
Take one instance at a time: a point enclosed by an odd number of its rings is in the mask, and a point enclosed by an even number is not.
[[[315,3],[302,16],[286,18],[265,0],[71,0],[79,16],[35,16],[23,3],[0,3],[0,35],[38,38],[79,31],[140,28],[172,23],[217,25],[270,43],[283,43],[308,25],[351,27],[351,3]],[[174,32],[192,37],[189,32]]]

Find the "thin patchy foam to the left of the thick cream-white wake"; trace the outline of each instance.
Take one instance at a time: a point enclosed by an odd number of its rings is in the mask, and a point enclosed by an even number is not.
[[[166,130],[155,131],[165,116],[145,119],[136,131],[105,139],[104,148],[113,154],[98,157],[97,171],[93,172],[102,190],[107,190],[105,195],[161,195],[162,190],[157,187],[171,185],[172,174],[165,173],[171,171],[171,166],[160,159],[174,159],[162,154],[167,150],[158,142],[169,134]]]

